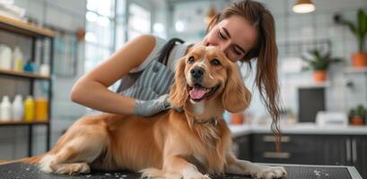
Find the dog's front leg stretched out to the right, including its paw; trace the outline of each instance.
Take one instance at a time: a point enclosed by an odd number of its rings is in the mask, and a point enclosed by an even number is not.
[[[225,172],[236,175],[251,175],[255,178],[272,179],[287,175],[283,166],[260,166],[246,160],[239,160],[232,153],[226,155]]]

